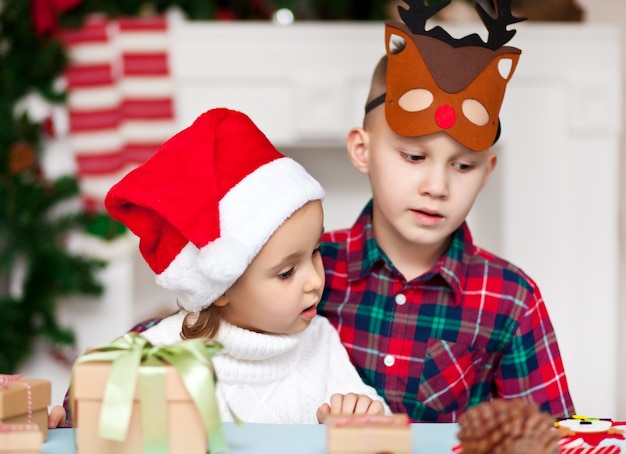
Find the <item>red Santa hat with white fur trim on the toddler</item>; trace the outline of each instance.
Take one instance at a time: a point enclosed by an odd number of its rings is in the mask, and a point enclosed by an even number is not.
[[[245,114],[205,112],[111,188],[105,205],[139,237],[157,283],[210,306],[320,184]]]

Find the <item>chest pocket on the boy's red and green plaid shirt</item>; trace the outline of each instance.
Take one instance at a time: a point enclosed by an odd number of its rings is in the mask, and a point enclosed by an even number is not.
[[[465,344],[430,339],[417,400],[438,413],[465,408],[483,357]]]

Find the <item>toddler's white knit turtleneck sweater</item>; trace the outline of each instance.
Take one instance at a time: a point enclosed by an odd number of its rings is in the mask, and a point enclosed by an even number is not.
[[[172,315],[142,333],[154,345],[181,340],[184,313]],[[366,394],[389,407],[363,383],[335,328],[317,316],[296,335],[260,334],[222,322],[215,338],[224,350],[213,362],[222,420],[317,423],[316,411],[334,393]]]

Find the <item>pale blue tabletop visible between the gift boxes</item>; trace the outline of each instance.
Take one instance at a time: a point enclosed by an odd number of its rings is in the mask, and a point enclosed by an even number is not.
[[[411,424],[413,454],[451,452],[458,441],[456,424]],[[229,454],[325,454],[326,426],[224,423]],[[74,430],[48,431],[42,454],[74,454]]]

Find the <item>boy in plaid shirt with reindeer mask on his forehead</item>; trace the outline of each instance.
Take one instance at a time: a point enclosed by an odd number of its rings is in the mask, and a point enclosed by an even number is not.
[[[320,313],[393,412],[456,421],[496,397],[554,417],[574,413],[541,293],[511,263],[472,242],[465,218],[497,156],[499,110],[520,51],[510,2],[489,39],[455,39],[425,22],[448,2],[399,7],[372,78],[362,128],[347,136],[372,200],[351,229],[322,238]],[[399,46],[394,47],[394,43]]]

